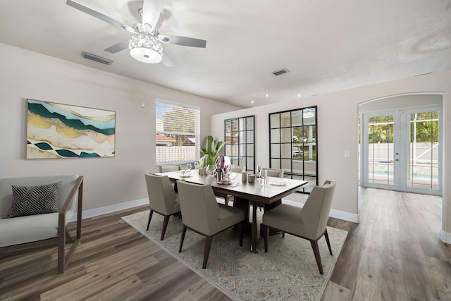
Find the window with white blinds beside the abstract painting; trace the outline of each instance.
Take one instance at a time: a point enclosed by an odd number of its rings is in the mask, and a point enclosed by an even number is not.
[[[156,165],[199,159],[199,116],[199,108],[156,100]]]

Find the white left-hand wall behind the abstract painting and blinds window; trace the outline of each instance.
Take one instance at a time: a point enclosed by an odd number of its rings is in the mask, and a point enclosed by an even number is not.
[[[147,197],[144,172],[158,171],[154,99],[201,108],[201,147],[210,134],[209,116],[238,109],[6,44],[0,54],[0,177],[83,175],[84,210]],[[116,156],[25,159],[26,99],[116,111]]]

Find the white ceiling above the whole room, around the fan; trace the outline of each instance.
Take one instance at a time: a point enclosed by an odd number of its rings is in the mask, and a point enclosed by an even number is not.
[[[80,1],[130,26],[142,6]],[[161,20],[206,49],[163,44],[172,67],[110,54],[130,33],[66,0],[1,0],[0,42],[245,108],[451,69],[451,0],[166,0]]]

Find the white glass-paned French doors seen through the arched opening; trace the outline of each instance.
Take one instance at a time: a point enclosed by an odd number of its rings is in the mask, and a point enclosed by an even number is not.
[[[441,195],[440,112],[362,113],[362,186]]]

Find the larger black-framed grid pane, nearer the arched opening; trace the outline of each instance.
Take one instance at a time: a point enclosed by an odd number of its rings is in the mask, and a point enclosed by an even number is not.
[[[316,106],[269,114],[270,166],[285,178],[307,180],[298,192],[318,185],[316,118]]]

